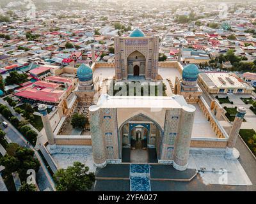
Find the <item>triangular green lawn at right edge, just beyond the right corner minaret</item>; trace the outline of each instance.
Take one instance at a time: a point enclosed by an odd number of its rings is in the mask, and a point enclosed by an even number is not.
[[[256,156],[256,132],[253,129],[240,129],[239,135]]]

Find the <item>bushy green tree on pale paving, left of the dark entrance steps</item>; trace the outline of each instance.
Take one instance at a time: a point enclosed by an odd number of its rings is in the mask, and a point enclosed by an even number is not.
[[[89,191],[95,181],[94,173],[82,163],[74,162],[67,170],[60,169],[54,176],[57,191]]]

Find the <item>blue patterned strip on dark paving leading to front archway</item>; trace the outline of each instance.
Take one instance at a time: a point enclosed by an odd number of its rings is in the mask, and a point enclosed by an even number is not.
[[[131,191],[151,191],[148,164],[130,165],[130,185]]]

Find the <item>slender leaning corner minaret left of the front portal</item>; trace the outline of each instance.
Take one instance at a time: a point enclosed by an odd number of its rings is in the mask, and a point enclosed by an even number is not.
[[[54,133],[52,131],[51,122],[48,117],[47,106],[44,104],[39,105],[38,111],[41,113],[41,118],[42,118],[42,121],[44,124],[44,129],[45,129],[45,133],[46,133],[47,140],[49,143],[49,147],[50,147],[50,149],[55,149],[56,144],[55,144],[55,140],[54,140]]]

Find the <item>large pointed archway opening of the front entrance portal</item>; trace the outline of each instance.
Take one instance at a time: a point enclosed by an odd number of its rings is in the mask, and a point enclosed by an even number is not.
[[[142,113],[126,120],[118,129],[124,163],[157,163],[163,129]]]

